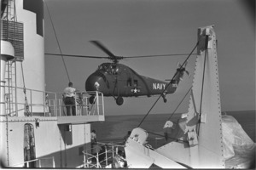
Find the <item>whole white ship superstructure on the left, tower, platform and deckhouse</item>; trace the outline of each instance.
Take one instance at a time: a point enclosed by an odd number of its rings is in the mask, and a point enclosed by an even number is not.
[[[1,1],[1,150],[3,167],[79,167],[90,150],[90,122],[105,120],[103,94],[45,92],[44,1]],[[94,93],[94,92],[90,92]]]

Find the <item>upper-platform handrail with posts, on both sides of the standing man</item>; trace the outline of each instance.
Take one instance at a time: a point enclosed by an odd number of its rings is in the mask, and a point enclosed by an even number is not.
[[[1,87],[9,87],[9,88],[15,88],[18,90],[24,90],[24,88],[19,88],[19,87],[12,87],[12,86],[4,86],[1,85]],[[63,104],[63,96],[62,93],[53,93],[49,91],[41,91],[41,90],[36,90],[36,89],[30,89],[26,88],[27,90],[27,97],[28,97],[28,102],[26,103],[25,100],[24,102],[22,101],[22,97],[20,99],[16,99],[15,102],[10,101],[10,99],[5,97],[5,103],[7,105],[6,109],[6,114],[2,113],[1,116],[3,115],[9,115],[9,116],[20,116],[20,111],[22,111],[22,107],[24,105],[28,105],[30,108],[30,112],[33,113],[35,111],[34,108],[38,110],[39,113],[43,113],[44,116],[46,116],[48,113],[50,116],[65,116],[63,113],[66,111],[67,105]],[[19,93],[22,93],[21,91]],[[39,94],[38,94],[39,93]],[[42,99],[37,99],[36,103],[32,101],[32,97],[36,95],[39,98]],[[101,92],[97,91],[89,91],[89,92],[78,92],[75,94],[76,95],[76,112],[79,113],[80,116],[84,115],[102,115],[104,116],[104,103],[103,103],[103,94]],[[94,95],[96,102],[94,104],[89,103],[89,97],[90,95]],[[35,97],[33,97],[35,99]],[[79,100],[80,99],[80,100]],[[79,102],[80,101],[80,102]],[[79,102],[79,103],[78,103]],[[13,105],[15,104],[15,109],[13,111],[8,111],[8,105]],[[26,111],[26,110],[25,110]],[[83,112],[84,111],[84,112]],[[21,116],[23,112],[21,112]]]

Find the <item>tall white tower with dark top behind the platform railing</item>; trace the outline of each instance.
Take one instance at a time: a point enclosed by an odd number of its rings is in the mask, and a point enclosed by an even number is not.
[[[24,28],[24,60],[16,62],[16,83],[17,87],[23,88],[23,67],[26,88],[44,91],[44,2],[43,0],[30,2],[26,0],[15,1],[17,21],[23,23]],[[38,30],[42,32],[39,33]],[[17,93],[17,102],[24,102],[23,92]],[[43,103],[43,99],[41,94],[34,93],[32,96],[34,103]],[[20,109],[19,107],[18,110]],[[43,106],[33,108],[33,112],[43,111]],[[22,113],[19,112],[19,114]]]

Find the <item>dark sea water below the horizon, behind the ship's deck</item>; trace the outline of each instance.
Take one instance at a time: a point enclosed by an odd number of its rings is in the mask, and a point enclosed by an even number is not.
[[[253,139],[255,143],[255,111],[226,111],[223,114],[234,116],[236,121],[241,124],[241,127],[247,135]],[[143,121],[144,115],[125,115],[125,116],[106,116],[105,122],[94,122],[91,124],[91,129],[96,130],[97,140],[101,142],[122,141],[127,131],[140,125],[148,132],[148,139],[161,138],[164,135],[164,125],[171,114],[154,114],[148,115]],[[174,114],[171,118],[172,122],[176,122],[180,114]],[[157,141],[153,141],[155,144]],[[154,145],[156,146],[156,145]]]

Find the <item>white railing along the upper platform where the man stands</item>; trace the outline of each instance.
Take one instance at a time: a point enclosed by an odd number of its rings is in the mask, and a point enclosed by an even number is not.
[[[38,116],[38,114],[39,116],[67,115],[67,105],[64,104],[61,93],[29,88],[16,88],[16,91],[19,97],[16,96],[15,99],[9,99],[8,94],[4,96],[6,112],[5,114],[1,113],[1,116]],[[89,102],[90,96],[95,96],[92,104]],[[104,116],[104,100],[101,92],[79,92],[76,94],[75,101],[76,116]],[[10,105],[14,105],[15,108],[10,110]]]

